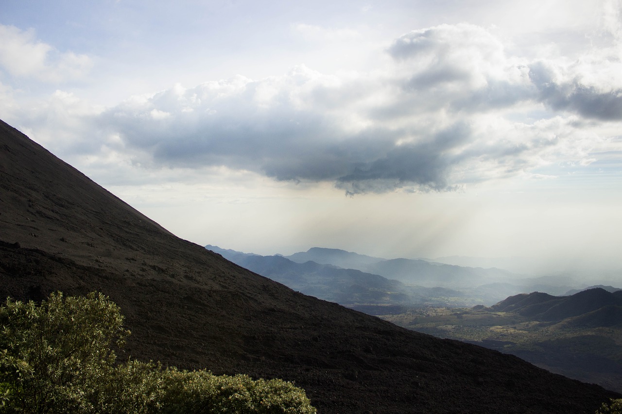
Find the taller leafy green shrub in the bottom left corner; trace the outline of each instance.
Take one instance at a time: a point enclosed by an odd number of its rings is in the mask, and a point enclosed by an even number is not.
[[[40,306],[7,300],[0,308],[2,378],[14,412],[90,413],[106,405],[116,355],[129,333],[114,303],[50,295]]]

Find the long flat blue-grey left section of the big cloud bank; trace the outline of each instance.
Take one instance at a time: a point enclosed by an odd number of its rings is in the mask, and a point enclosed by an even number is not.
[[[224,88],[229,91],[226,96],[218,91],[202,94],[200,88],[177,96],[162,93],[109,111],[106,122],[129,145],[152,154],[159,165],[226,165],[276,180],[333,181],[350,193],[407,186],[444,190],[450,161],[442,153],[468,135],[458,126],[415,137],[415,144],[396,145],[410,137],[409,129],[372,125],[344,131],[339,117],[315,106],[295,108],[290,97],[258,108],[248,90],[256,86],[238,85],[233,92]],[[315,90],[310,94],[317,96]],[[201,103],[192,111],[180,111],[190,100]],[[379,180],[390,184],[380,189]]]

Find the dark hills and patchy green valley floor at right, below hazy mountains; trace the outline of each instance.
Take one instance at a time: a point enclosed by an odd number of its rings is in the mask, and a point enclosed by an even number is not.
[[[508,352],[558,374],[622,392],[622,291],[569,297],[533,292],[486,308],[394,312],[384,319],[416,331]]]

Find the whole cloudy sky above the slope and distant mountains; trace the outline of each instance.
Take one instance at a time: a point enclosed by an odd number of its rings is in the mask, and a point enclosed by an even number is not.
[[[0,119],[202,245],[622,268],[621,0],[3,0]]]

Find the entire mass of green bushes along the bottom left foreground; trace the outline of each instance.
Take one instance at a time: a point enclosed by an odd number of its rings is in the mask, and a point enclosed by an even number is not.
[[[0,306],[0,412],[315,413],[283,380],[116,361],[129,331],[101,293]]]

